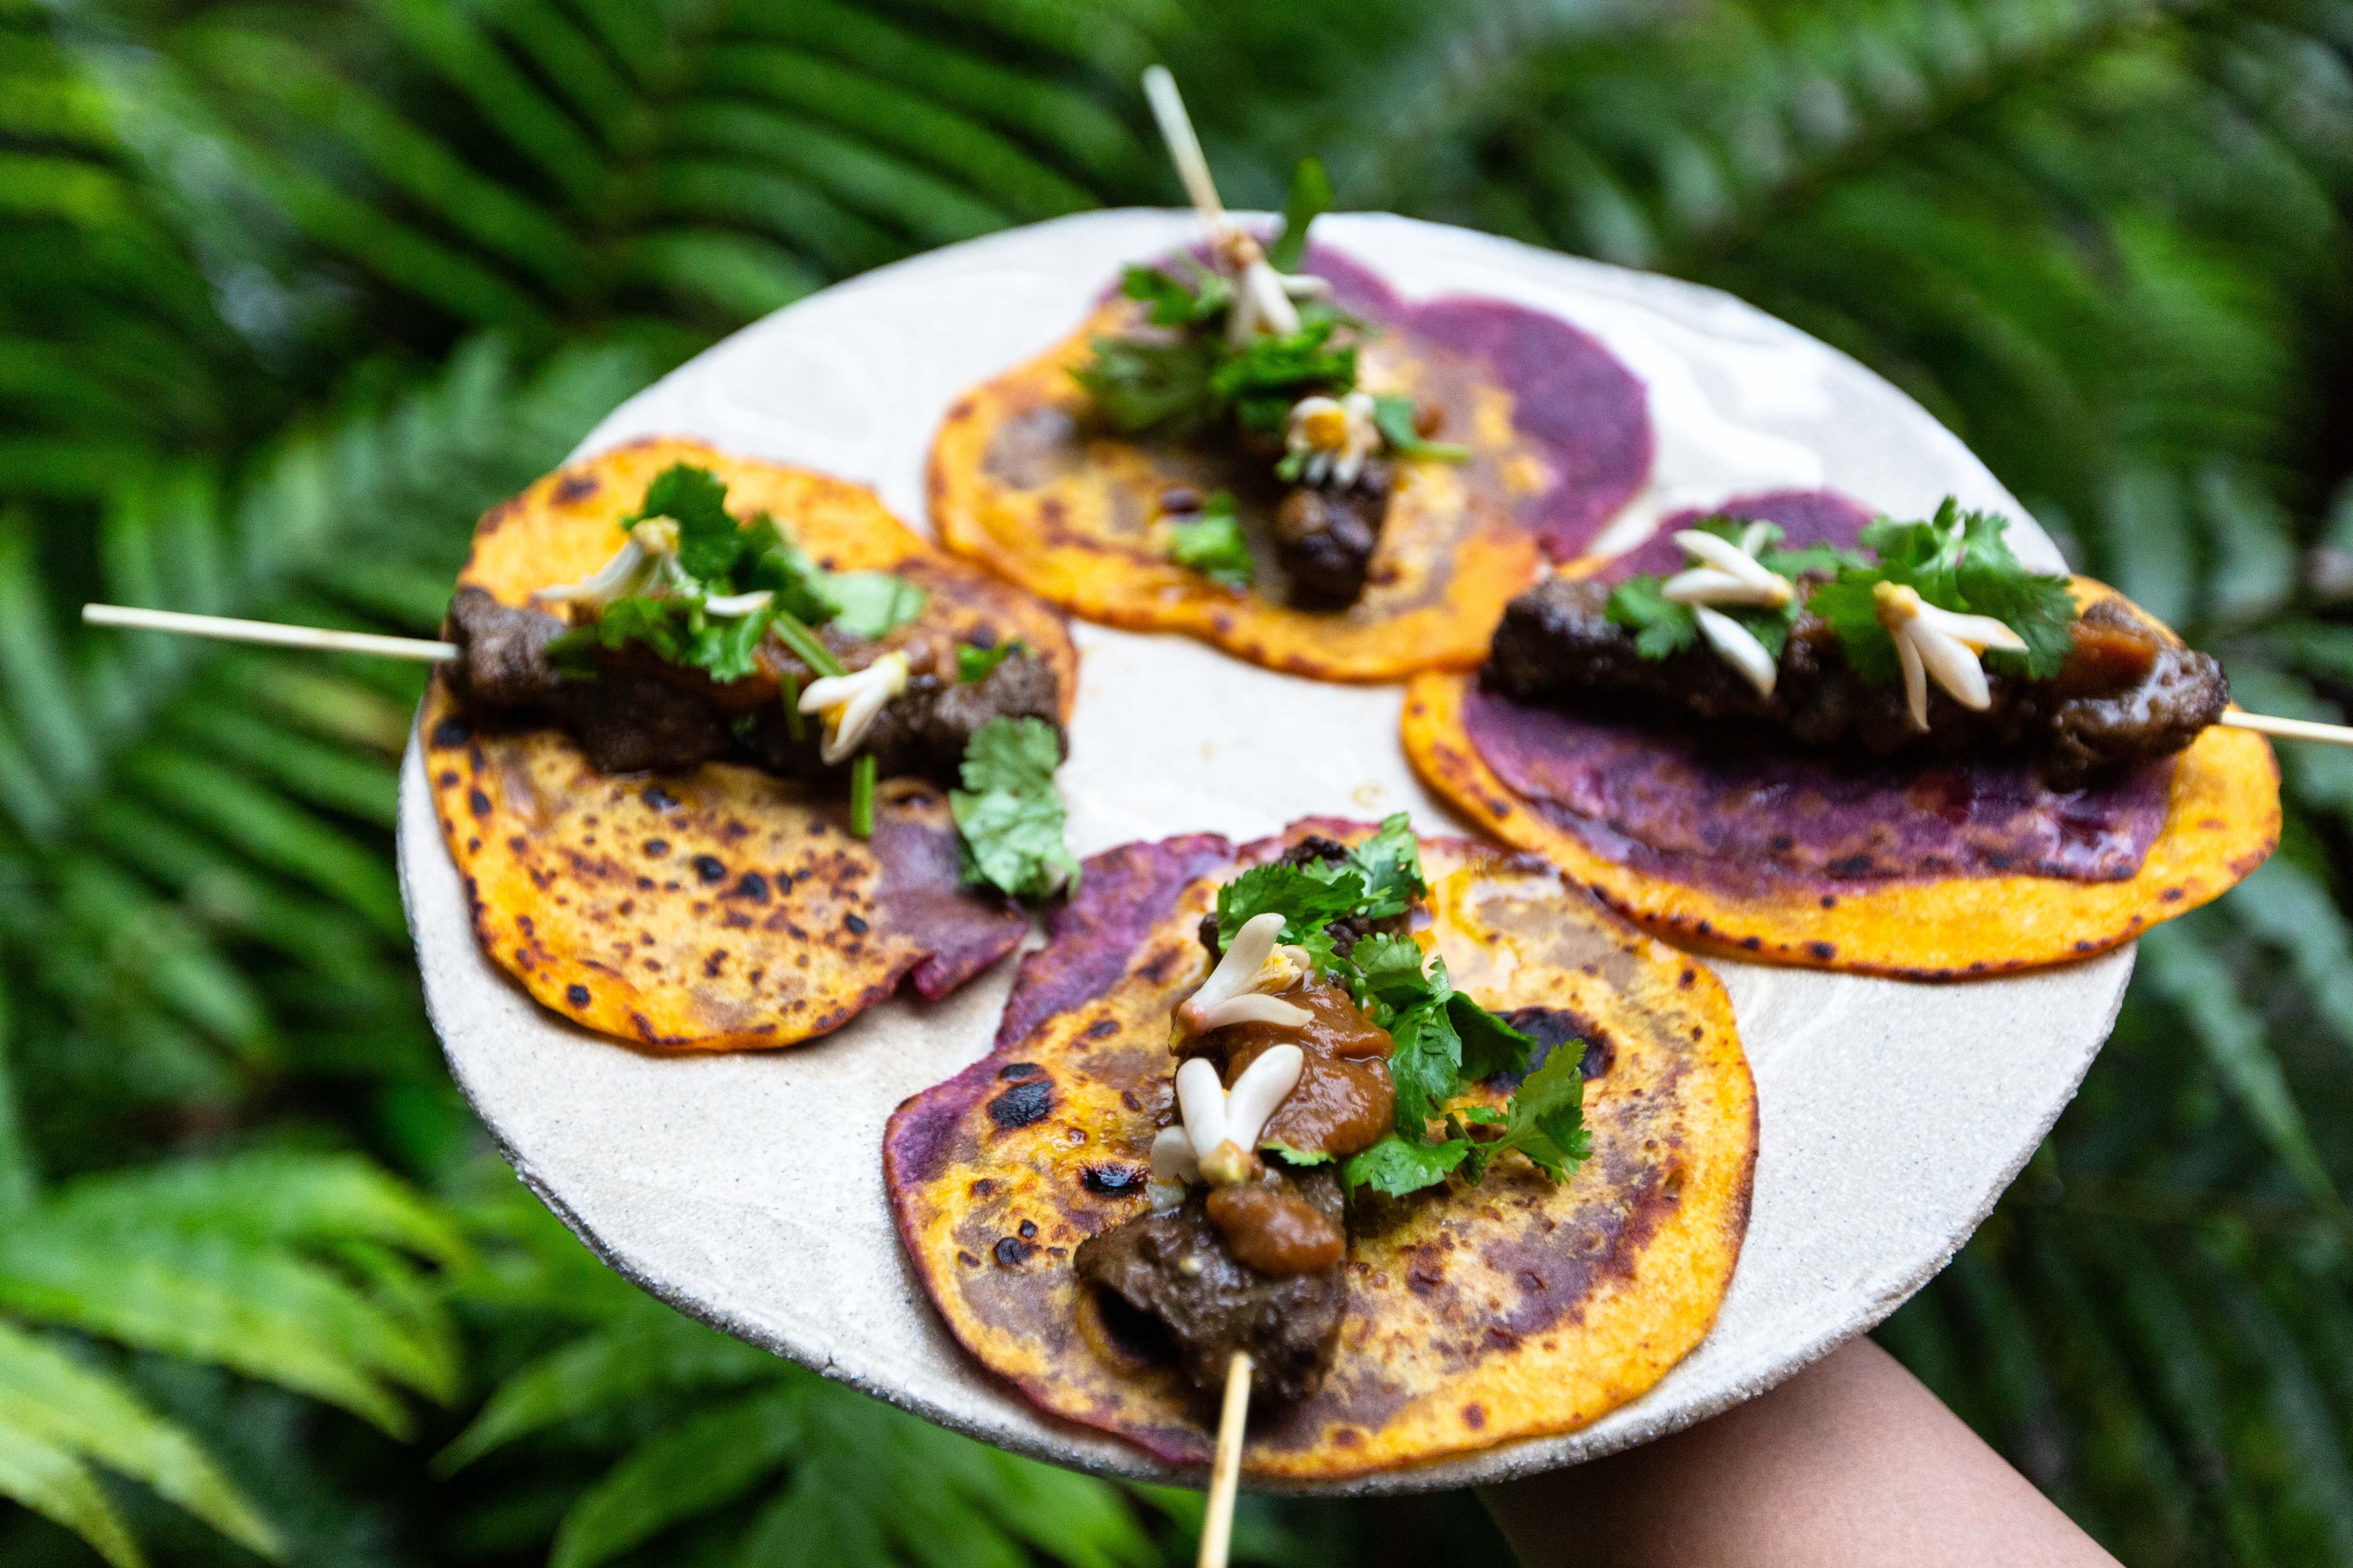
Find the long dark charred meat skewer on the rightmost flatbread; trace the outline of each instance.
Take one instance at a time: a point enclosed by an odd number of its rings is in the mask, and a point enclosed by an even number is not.
[[[1809,583],[1800,581],[1800,595]],[[2177,642],[2115,599],[2082,614],[2075,649],[2047,682],[1991,675],[1993,703],[1962,708],[1929,686],[1929,729],[1918,731],[1899,684],[1864,682],[1835,632],[1800,614],[1762,696],[1706,644],[1668,658],[1635,654],[1609,621],[1609,588],[1548,578],[1504,611],[1485,679],[1522,703],[1706,726],[1751,726],[1805,750],[1889,757],[2017,752],[2042,783],[2073,790],[2094,776],[2179,752],[2221,717],[2231,686],[2207,654]]]

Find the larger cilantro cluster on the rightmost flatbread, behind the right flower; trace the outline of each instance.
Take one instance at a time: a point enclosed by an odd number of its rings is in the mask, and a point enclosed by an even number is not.
[[[1993,616],[2026,642],[2026,651],[1988,649],[1986,668],[2049,679],[2075,646],[2075,595],[2064,576],[2028,571],[2012,555],[2007,529],[2007,517],[1962,512],[1953,496],[1929,522],[1880,517],[1859,541],[1873,559],[1842,564],[1833,581],[1814,590],[1807,609],[1838,632],[1847,663],[1873,684],[1901,677],[1894,637],[1873,599],[1880,583],[1911,588],[1939,609]]]

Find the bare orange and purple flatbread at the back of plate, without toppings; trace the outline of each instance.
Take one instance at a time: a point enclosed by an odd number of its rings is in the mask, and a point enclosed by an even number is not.
[[[1099,336],[1144,327],[1104,303],[1071,339],[948,409],[932,447],[941,541],[1089,621],[1186,632],[1238,658],[1339,682],[1468,670],[1504,604],[1544,559],[1586,548],[1649,477],[1642,383],[1569,322],[1494,299],[1407,303],[1348,256],[1311,247],[1306,270],[1374,327],[1358,381],[1442,416],[1468,463],[1402,458],[1362,597],[1339,611],[1285,604],[1271,524],[1273,454],[1217,437],[1127,440],[1101,428],[1071,371]],[[1233,491],[1257,552],[1252,588],[1169,562],[1172,489]]]

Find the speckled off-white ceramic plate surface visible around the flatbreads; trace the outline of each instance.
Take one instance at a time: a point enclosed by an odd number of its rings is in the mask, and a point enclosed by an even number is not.
[[[1191,214],[1104,212],[920,256],[739,331],[581,444],[696,435],[875,487],[925,527],[948,402],[1085,315],[1120,263]],[[1734,491],[1828,484],[1894,512],[1953,491],[2024,520],[1918,404],[1845,355],[1708,289],[1393,216],[1318,240],[1412,299],[1487,294],[1600,336],[1649,386],[1659,465],[1607,538]],[[2021,555],[2059,567],[2019,529]],[[1325,686],[1181,637],[1075,628],[1071,844],[1409,809],[1454,830],[1398,750],[1395,686]],[[518,1173],[612,1267],[704,1321],[984,1441],[1101,1474],[1169,1472],[1040,1415],[955,1347],[882,1197],[882,1121],[988,1051],[1012,964],[939,1004],[889,1001],[814,1046],[673,1060],[539,1011],[473,945],[412,745],[400,879],[426,1001]],[[1755,1067],[1755,1213],[1715,1331],[1649,1394],[1555,1439],[1327,1490],[1466,1486],[1640,1443],[1722,1410],[1871,1328],[1969,1237],[2106,1039],[2132,952],[1979,985],[1715,961]]]

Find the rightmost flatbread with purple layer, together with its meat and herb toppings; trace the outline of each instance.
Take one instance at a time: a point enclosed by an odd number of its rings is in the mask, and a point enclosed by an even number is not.
[[[2214,724],[2209,656],[2005,527],[1826,491],[1680,515],[1515,599],[1480,677],[1417,682],[1407,752],[1701,950],[1911,978],[2108,950],[2261,863],[2278,769]]]

